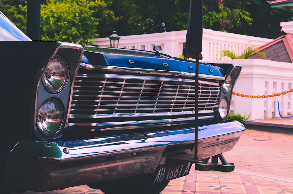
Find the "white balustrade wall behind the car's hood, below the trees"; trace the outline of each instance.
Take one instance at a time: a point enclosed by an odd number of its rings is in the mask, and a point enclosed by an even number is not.
[[[119,35],[119,32],[117,32]],[[119,40],[120,48],[131,48],[152,51],[154,45],[162,46],[162,53],[177,57],[183,54],[185,46],[186,30],[122,36]],[[248,46],[261,46],[272,39],[258,38],[254,36],[239,35],[233,33],[219,32],[203,29],[202,34],[202,56],[203,60],[217,60],[222,50],[231,50],[237,54]],[[109,38],[96,38],[95,44],[99,46],[110,46]],[[224,57],[223,60],[229,60]]]

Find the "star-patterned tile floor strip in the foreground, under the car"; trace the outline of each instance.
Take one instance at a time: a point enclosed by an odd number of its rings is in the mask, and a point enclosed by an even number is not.
[[[188,176],[171,180],[161,192],[161,194],[195,193],[293,194],[293,179],[243,170],[225,173],[219,171],[196,171],[195,166],[193,166]],[[24,194],[103,194],[103,192],[82,185],[49,192],[27,191]]]

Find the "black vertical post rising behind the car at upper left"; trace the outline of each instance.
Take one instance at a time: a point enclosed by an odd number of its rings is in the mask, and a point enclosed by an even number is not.
[[[32,40],[41,40],[41,0],[27,0],[26,35]]]

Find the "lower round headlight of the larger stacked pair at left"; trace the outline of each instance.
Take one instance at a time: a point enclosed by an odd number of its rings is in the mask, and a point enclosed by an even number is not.
[[[56,134],[62,125],[62,120],[62,108],[53,99],[45,101],[38,110],[37,125],[45,136]]]

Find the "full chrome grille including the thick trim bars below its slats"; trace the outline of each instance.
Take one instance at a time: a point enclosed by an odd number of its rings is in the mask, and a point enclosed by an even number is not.
[[[113,69],[107,69],[109,74],[105,74],[103,70],[103,74],[93,70],[77,74],[67,126],[118,130],[139,125],[177,125],[194,120],[194,79],[159,77],[158,74],[111,74]],[[219,81],[199,82],[199,119],[212,119],[220,96]],[[187,118],[182,118],[183,115]],[[162,118],[157,118],[160,116]],[[112,122],[111,118],[119,118],[119,121]]]

